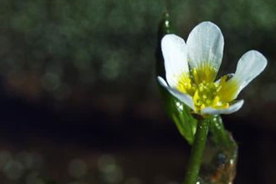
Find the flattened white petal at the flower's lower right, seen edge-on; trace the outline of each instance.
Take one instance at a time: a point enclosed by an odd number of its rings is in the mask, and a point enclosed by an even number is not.
[[[233,112],[238,111],[244,103],[244,100],[237,100],[233,104],[231,104],[228,108],[225,109],[215,109],[212,107],[206,107],[201,110],[201,114],[231,114]]]

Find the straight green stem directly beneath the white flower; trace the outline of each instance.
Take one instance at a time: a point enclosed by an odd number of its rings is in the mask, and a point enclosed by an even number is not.
[[[202,155],[209,130],[209,120],[208,118],[201,118],[197,122],[197,129],[184,178],[184,184],[195,184],[198,179]]]

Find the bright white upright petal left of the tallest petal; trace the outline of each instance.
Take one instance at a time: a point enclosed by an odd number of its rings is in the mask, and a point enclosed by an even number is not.
[[[179,77],[189,72],[185,41],[174,34],[167,34],[161,40],[165,62],[166,79],[171,87],[176,87]]]

